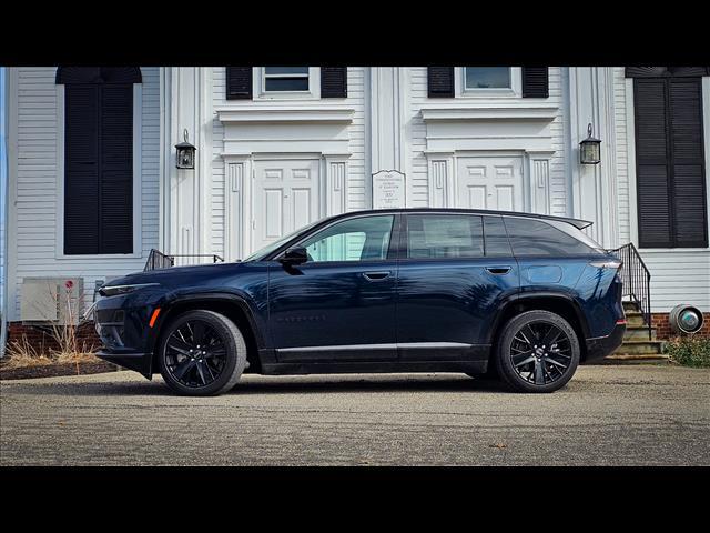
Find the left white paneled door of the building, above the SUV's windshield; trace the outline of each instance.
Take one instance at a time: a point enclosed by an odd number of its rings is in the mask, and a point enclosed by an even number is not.
[[[317,159],[254,162],[252,251],[321,218],[318,169]]]

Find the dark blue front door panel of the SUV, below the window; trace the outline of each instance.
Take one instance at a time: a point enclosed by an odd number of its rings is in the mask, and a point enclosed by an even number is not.
[[[395,360],[393,261],[270,271],[270,333],[280,362]],[[364,274],[389,272],[385,279]]]

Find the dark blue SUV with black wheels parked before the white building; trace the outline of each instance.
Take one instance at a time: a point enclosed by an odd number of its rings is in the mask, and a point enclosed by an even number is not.
[[[100,291],[100,356],[182,394],[243,372],[465,372],[551,392],[626,329],[620,261],[589,222],[459,209],[326,218],[234,263]]]

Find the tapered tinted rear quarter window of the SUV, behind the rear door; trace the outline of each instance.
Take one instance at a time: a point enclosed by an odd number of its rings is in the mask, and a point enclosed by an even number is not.
[[[516,255],[572,255],[594,250],[541,220],[506,217],[506,230]]]

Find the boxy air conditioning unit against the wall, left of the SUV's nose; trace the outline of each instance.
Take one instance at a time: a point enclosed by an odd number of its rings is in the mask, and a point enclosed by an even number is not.
[[[26,323],[75,325],[83,311],[83,278],[24,278],[20,319]]]

